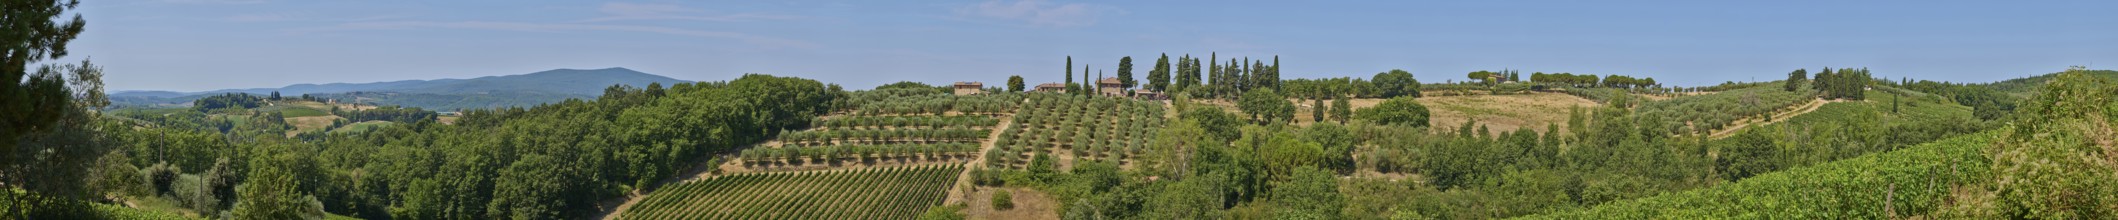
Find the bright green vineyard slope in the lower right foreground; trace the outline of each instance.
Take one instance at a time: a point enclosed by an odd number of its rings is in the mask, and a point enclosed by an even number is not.
[[[1866,154],[1813,167],[1764,173],[1735,184],[1675,195],[1616,201],[1580,212],[1533,218],[1792,218],[1874,220],[1923,216],[1940,207],[1955,186],[1991,182],[1982,152],[1997,133],[1976,133],[1896,152]]]

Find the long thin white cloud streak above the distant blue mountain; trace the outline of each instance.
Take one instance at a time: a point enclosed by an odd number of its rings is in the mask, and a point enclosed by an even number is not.
[[[347,32],[347,30],[417,30],[417,28],[441,28],[441,30],[502,30],[502,32],[644,32],[644,34],[671,34],[671,36],[701,36],[701,38],[733,38],[760,47],[798,47],[815,49],[813,42],[767,38],[739,32],[707,32],[707,30],[682,30],[682,28],[657,28],[657,25],[593,25],[593,23],[519,23],[519,21],[356,21],[339,23],[330,28],[309,28],[299,32]]]

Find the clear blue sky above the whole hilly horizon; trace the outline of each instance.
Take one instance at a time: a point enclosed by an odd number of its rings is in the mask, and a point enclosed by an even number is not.
[[[72,59],[112,91],[631,68],[866,89],[1055,82],[1063,57],[1135,74],[1161,53],[1271,59],[1288,78],[1411,70],[1631,74],[1665,85],[1794,68],[2004,80],[2118,66],[2112,0],[85,0]]]

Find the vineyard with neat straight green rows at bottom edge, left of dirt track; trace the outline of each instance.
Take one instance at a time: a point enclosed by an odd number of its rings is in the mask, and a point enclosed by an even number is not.
[[[669,184],[625,220],[909,220],[940,205],[962,165],[735,173]]]

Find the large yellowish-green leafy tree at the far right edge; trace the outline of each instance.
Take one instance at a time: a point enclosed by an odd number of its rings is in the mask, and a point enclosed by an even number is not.
[[[2118,125],[2118,85],[2076,66],[2023,102],[2002,142],[1993,142],[1993,188],[1999,216],[2107,218],[2118,205],[2118,163],[2110,161],[2110,125]]]

